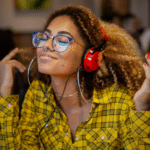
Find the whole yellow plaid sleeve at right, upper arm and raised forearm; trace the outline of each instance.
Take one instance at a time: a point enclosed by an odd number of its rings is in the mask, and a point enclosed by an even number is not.
[[[122,149],[150,150],[150,111],[136,111],[133,96],[126,90],[115,96],[121,110],[117,129]]]

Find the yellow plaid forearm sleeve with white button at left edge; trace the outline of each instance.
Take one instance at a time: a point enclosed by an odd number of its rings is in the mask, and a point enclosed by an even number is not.
[[[14,150],[14,132],[19,120],[19,96],[0,97],[0,149]]]

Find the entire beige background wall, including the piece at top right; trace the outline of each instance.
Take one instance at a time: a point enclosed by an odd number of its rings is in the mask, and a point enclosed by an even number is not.
[[[144,27],[148,27],[149,0],[130,0],[130,11],[136,14]],[[101,0],[52,0],[48,11],[16,12],[14,0],[0,0],[0,28],[9,28],[14,32],[32,32],[41,30],[51,12],[63,5],[74,4],[89,7],[97,16],[101,15]]]

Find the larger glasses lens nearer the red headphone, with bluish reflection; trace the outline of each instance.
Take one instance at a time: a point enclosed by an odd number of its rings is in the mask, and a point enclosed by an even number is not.
[[[63,35],[54,37],[53,47],[56,51],[63,52],[65,51],[70,44],[69,38]]]

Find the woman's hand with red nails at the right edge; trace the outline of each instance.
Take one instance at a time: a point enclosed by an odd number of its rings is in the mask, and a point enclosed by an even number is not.
[[[150,54],[145,56],[147,63],[144,63],[146,79],[139,91],[135,93],[134,102],[137,111],[150,111]]]

